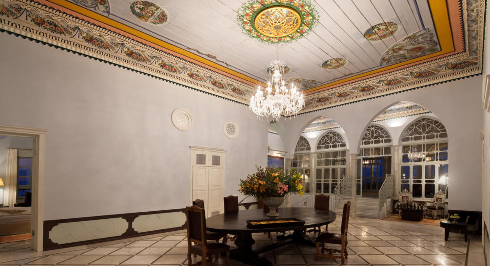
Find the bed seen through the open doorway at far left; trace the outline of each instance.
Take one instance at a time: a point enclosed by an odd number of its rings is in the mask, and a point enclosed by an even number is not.
[[[30,232],[31,207],[0,208],[0,236]]]

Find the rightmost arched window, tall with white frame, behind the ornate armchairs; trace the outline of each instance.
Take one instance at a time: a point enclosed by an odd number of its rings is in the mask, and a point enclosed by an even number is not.
[[[439,189],[446,188],[446,184],[439,181],[448,173],[446,128],[434,118],[422,117],[405,129],[400,142],[400,191],[408,189],[414,198],[433,199]],[[411,158],[415,153],[425,157]]]

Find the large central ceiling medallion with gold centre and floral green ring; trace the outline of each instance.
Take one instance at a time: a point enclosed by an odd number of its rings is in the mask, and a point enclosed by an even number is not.
[[[310,33],[318,22],[310,0],[251,0],[238,10],[238,24],[263,43],[288,43]]]

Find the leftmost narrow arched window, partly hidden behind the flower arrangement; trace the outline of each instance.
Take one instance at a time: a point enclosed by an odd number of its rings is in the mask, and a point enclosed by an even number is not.
[[[291,164],[293,168],[303,174],[303,187],[306,193],[310,192],[310,151],[311,147],[308,140],[304,136],[299,136]]]

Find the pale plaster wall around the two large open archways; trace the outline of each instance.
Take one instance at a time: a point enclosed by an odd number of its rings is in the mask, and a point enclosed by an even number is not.
[[[286,151],[294,151],[302,129],[321,115],[342,126],[350,144],[350,153],[357,153],[364,129],[379,112],[398,101],[417,103],[439,117],[448,133],[451,149],[448,158],[451,177],[448,208],[481,211],[481,84],[482,76],[476,76],[299,115],[280,122],[286,132],[282,139]]]

